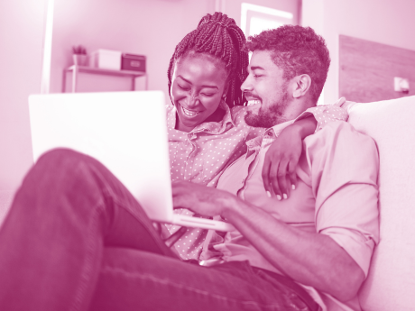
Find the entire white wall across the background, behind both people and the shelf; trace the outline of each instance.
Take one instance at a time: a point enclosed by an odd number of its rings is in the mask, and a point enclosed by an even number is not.
[[[147,55],[150,89],[167,94],[166,70],[175,45],[204,14],[213,13],[216,3],[239,23],[232,1],[55,0],[51,91],[60,92],[70,48],[81,43],[88,50]],[[0,190],[17,188],[32,165],[27,96],[40,91],[45,5],[46,0],[0,1]],[[327,103],[338,96],[338,34],[415,50],[413,0],[303,0],[302,6],[303,24],[323,34],[331,53]],[[98,84],[129,86],[115,79]]]

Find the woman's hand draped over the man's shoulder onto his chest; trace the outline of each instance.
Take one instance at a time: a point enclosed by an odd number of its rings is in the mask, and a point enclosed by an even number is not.
[[[268,196],[279,200],[290,197],[297,187],[296,168],[302,151],[302,140],[314,133],[317,121],[313,115],[287,126],[272,142],[263,161],[263,187]]]

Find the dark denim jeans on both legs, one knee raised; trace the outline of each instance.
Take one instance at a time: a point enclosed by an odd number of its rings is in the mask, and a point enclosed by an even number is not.
[[[265,274],[180,261],[118,179],[69,150],[38,160],[0,231],[0,310],[308,310]]]

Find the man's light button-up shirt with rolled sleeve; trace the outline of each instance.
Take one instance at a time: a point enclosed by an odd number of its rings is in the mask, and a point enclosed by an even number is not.
[[[300,230],[328,235],[367,276],[374,245],[379,242],[379,156],[374,141],[356,132],[349,123],[328,123],[304,140],[296,169],[298,187],[291,191],[289,199],[279,201],[268,197],[263,188],[263,159],[272,137],[291,123],[276,125],[247,142],[246,156],[226,169],[217,188]],[[236,230],[226,233],[225,239],[210,231],[207,242],[209,239],[213,242],[208,250],[215,249],[224,261],[249,261],[255,267],[281,273]],[[328,310],[360,309],[356,297],[343,304],[314,288],[305,288]]]

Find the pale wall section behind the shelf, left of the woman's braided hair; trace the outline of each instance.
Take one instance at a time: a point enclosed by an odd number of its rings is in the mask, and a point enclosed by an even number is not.
[[[167,96],[166,72],[177,43],[214,8],[212,0],[55,0],[51,93],[61,91],[62,70],[72,64],[72,45],[83,44],[88,51],[146,55],[149,89]],[[79,91],[129,90],[130,85],[128,78],[85,74],[78,83]]]

